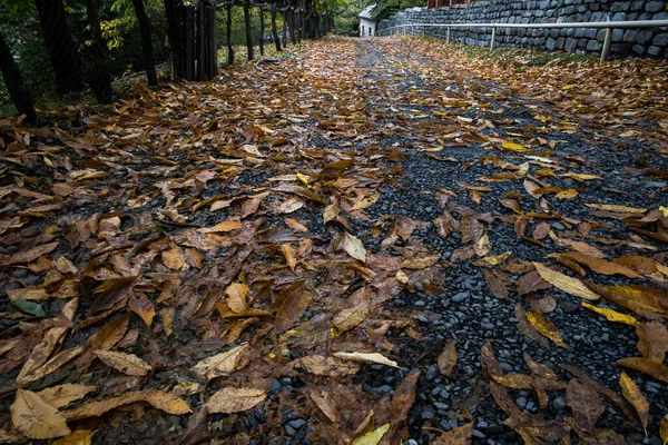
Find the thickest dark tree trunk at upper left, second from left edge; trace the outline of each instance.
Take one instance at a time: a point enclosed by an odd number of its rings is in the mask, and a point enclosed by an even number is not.
[[[84,88],[81,59],[67,23],[61,0],[35,0],[37,13],[56,76],[56,91],[66,95]]]

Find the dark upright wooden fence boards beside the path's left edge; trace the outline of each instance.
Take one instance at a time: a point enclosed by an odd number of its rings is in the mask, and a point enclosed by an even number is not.
[[[184,79],[212,80],[218,75],[216,7],[179,7],[184,36]]]

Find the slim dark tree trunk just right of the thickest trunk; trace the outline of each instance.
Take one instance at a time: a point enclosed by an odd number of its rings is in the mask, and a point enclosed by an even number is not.
[[[114,90],[111,89],[111,73],[107,66],[107,43],[102,39],[102,30],[100,29],[98,0],[86,0],[86,13],[88,16],[88,27],[92,41],[90,46],[90,56],[92,59],[90,87],[98,102],[110,103],[114,100]]]

